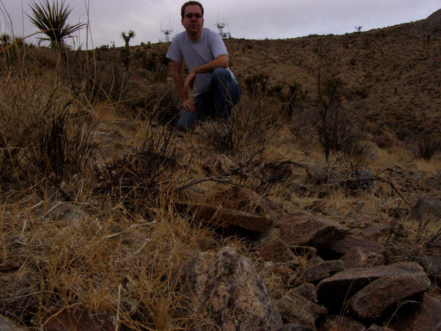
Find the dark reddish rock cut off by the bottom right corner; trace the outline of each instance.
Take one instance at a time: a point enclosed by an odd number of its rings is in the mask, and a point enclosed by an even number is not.
[[[391,324],[400,331],[441,331],[441,302],[424,294],[422,301]]]

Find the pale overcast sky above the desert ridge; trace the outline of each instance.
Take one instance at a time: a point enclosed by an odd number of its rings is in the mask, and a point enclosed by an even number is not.
[[[43,0],[37,0],[37,2]],[[57,1],[57,0],[55,0]],[[61,0],[59,0],[61,2]],[[52,0],[50,0],[52,3]],[[134,30],[131,45],[164,39],[163,29],[172,36],[183,31],[176,0],[65,0],[73,8],[70,23],[90,22],[88,48],[122,46],[121,32]],[[440,0],[205,0],[205,28],[216,30],[216,21],[228,23],[224,29],[232,37],[278,39],[308,34],[344,34],[384,28],[425,19],[441,8]],[[0,32],[29,35],[36,32],[24,13],[30,13],[29,0],[0,0]],[[24,28],[24,32],[23,32]],[[31,38],[31,37],[30,37]],[[31,39],[30,39],[31,40]],[[85,31],[74,39],[86,46]]]

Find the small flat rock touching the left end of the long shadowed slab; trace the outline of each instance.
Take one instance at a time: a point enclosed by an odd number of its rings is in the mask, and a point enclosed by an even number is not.
[[[345,269],[345,264],[343,261],[339,260],[331,260],[331,261],[319,261],[318,263],[311,263],[307,265],[307,267],[301,270],[296,280],[294,281],[294,285],[298,285],[301,283],[316,283],[330,277],[331,274],[334,274],[338,271],[342,271]]]

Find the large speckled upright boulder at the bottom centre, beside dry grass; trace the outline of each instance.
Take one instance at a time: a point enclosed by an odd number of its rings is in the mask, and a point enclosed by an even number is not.
[[[199,253],[181,270],[201,324],[195,330],[273,330],[282,318],[252,263],[234,248]]]

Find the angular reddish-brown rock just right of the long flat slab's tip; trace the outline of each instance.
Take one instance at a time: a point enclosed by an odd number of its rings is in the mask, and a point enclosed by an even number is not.
[[[314,248],[322,248],[332,241],[342,239],[349,231],[343,225],[305,212],[291,213],[288,217],[278,220],[275,225],[280,229],[280,238],[288,245]]]

